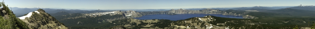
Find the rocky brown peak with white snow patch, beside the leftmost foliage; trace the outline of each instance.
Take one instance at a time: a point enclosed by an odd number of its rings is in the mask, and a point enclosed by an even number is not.
[[[68,29],[53,16],[45,13],[43,9],[30,12],[26,16],[19,17],[22,21],[28,24],[31,29]]]

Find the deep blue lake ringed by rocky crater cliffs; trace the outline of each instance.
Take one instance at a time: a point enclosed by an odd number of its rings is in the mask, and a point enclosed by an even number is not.
[[[145,15],[141,17],[136,17],[134,19],[139,20],[151,20],[151,19],[167,19],[167,20],[185,20],[192,17],[203,17],[203,16],[218,16],[226,18],[243,18],[242,16],[233,16],[233,15],[222,15],[222,14],[177,14],[177,15],[167,15],[167,14],[154,14],[154,15]]]

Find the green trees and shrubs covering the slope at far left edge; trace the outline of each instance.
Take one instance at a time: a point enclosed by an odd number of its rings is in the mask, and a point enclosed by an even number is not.
[[[4,2],[0,2],[0,4],[0,7],[3,7],[2,9],[5,10],[8,15],[7,18],[3,18],[3,16],[0,17],[0,29],[29,29],[25,22],[15,17],[15,14],[12,13],[12,10],[10,10]]]

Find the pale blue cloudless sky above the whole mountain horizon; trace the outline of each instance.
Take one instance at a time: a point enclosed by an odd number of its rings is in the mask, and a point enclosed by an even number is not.
[[[315,5],[315,0],[4,0],[19,8],[189,9]],[[2,1],[1,1],[2,2]]]

